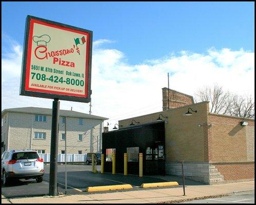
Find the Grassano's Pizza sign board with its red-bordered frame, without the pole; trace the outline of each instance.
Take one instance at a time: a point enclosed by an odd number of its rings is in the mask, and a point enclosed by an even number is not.
[[[93,32],[27,16],[20,95],[88,103]]]

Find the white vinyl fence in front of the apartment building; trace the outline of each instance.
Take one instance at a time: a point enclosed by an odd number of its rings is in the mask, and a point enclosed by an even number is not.
[[[50,162],[50,154],[39,154],[44,162]],[[67,162],[85,162],[86,154],[67,154]],[[58,162],[65,162],[65,154],[58,154]]]

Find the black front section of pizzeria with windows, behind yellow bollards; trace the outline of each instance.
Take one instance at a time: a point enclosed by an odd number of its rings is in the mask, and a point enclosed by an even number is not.
[[[123,174],[127,153],[127,173],[139,174],[139,153],[143,153],[143,175],[165,174],[164,136],[164,121],[103,133],[105,172],[112,172],[112,154],[116,154],[116,173]]]

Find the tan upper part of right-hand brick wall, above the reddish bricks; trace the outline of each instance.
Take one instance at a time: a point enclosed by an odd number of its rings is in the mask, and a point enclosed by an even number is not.
[[[242,120],[239,117],[208,114],[208,124],[213,124],[208,129],[212,154],[209,161],[254,161],[254,120],[245,119],[248,126],[241,126]]]

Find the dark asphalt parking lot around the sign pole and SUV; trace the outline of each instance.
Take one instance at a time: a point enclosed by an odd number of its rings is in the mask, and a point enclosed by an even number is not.
[[[15,180],[8,186],[2,186],[2,194],[5,197],[25,197],[25,196],[44,196],[49,193],[49,168],[45,165],[45,174],[43,182],[36,183],[35,179]],[[85,192],[87,187],[122,185],[129,183],[133,186],[133,190],[141,189],[142,183],[164,182],[162,178],[155,176],[143,176],[100,173],[100,166],[97,166],[98,173],[92,172],[92,165],[67,165],[67,194],[93,194],[93,192]],[[170,180],[169,180],[170,181]],[[177,181],[182,186],[182,178],[173,176],[173,181]],[[65,165],[58,165],[58,192],[65,193]],[[188,180],[187,180],[188,182]],[[190,181],[191,183],[191,181]],[[192,182],[193,183],[193,182]],[[195,182],[195,185],[198,185]],[[170,188],[170,187],[169,187]],[[150,188],[147,188],[150,189]],[[120,191],[120,190],[119,190]],[[125,190],[122,190],[125,191]],[[129,190],[131,191],[131,190]],[[106,191],[105,191],[106,192]],[[105,193],[102,192],[102,193]],[[115,191],[107,191],[115,192]]]

